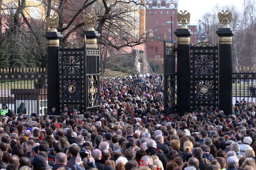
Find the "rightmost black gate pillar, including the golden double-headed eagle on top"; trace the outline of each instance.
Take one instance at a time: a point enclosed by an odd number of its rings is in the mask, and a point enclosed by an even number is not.
[[[229,12],[219,13],[230,15]],[[232,14],[231,14],[232,15]],[[229,17],[228,17],[229,18]],[[224,21],[224,20],[222,20]],[[232,113],[232,36],[228,23],[221,22],[223,25],[216,33],[219,36],[219,109],[225,114]]]

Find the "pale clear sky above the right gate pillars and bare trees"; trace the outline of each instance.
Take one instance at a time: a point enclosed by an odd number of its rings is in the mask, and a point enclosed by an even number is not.
[[[190,24],[197,25],[197,20],[215,6],[235,6],[242,9],[244,0],[178,0],[178,9],[190,13]]]

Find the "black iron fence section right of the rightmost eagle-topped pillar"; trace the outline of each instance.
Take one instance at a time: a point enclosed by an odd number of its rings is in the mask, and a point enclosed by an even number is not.
[[[221,80],[220,80],[221,81]],[[250,109],[256,103],[256,68],[236,68],[232,73],[232,100],[241,109]],[[241,102],[242,101],[242,102]]]

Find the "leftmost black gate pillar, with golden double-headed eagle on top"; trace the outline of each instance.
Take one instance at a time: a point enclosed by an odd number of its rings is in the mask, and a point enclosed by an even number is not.
[[[53,17],[54,18],[54,17]],[[52,19],[53,19],[52,18]],[[51,19],[51,18],[48,18]],[[56,22],[55,22],[56,23]],[[60,112],[59,100],[59,44],[60,38],[63,36],[58,32],[56,27],[58,25],[51,25],[51,29],[44,35],[47,38],[47,111],[51,111],[52,107]]]

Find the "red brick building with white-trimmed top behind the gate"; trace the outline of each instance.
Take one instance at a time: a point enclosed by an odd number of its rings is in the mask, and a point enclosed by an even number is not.
[[[187,9],[180,9],[187,10]],[[145,31],[153,35],[153,39],[145,44],[146,56],[149,60],[161,61],[163,63],[163,38],[176,42],[174,31],[178,28],[176,14],[178,12],[178,0],[148,0],[145,13]],[[171,29],[172,16],[172,29]],[[195,34],[191,35],[191,44],[196,44],[196,25],[188,25]]]

